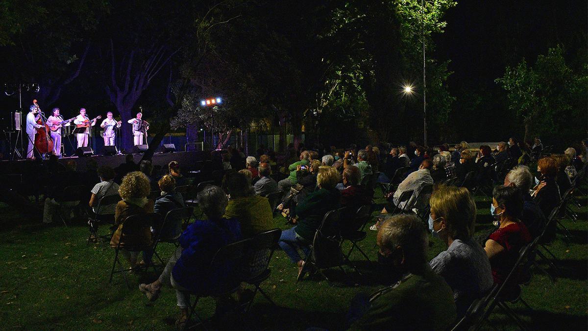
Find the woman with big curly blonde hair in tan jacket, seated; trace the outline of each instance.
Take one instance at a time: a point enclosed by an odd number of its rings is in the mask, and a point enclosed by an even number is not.
[[[111,247],[121,244],[121,254],[131,264],[134,269],[137,264],[137,252],[125,250],[126,245],[139,246],[152,243],[151,230],[148,227],[141,227],[135,231],[130,231],[132,236],[122,236],[123,223],[127,217],[138,214],[153,213],[153,201],[148,200],[147,196],[151,192],[149,178],[141,171],[133,171],[122,178],[121,187],[118,193],[122,200],[116,204],[114,220],[118,226],[112,235]]]

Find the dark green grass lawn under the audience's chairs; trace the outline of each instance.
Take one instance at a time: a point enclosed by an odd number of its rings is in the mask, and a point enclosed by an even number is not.
[[[522,297],[533,307],[529,312],[520,304],[513,307],[529,323],[530,329],[586,329],[588,312],[587,287],[587,211],[577,210],[580,220],[564,220],[575,235],[572,243],[562,236],[549,249],[561,260],[562,276],[556,282],[535,273],[529,286],[523,286]],[[490,200],[476,198],[478,206],[477,233],[490,229]],[[176,318],[175,293],[165,288],[152,306],[137,285],[151,282],[158,274],[148,272],[129,275],[132,289],[116,274],[108,283],[113,249],[105,244],[86,245],[88,229],[83,223],[41,227],[24,220],[12,208],[0,204],[0,329],[173,329]],[[281,216],[276,227],[287,229]],[[371,224],[372,222],[370,222]],[[19,224],[18,226],[15,224]],[[22,225],[20,225],[22,224]],[[370,225],[368,224],[368,226]],[[106,231],[105,227],[101,228]],[[360,244],[375,261],[375,231]],[[438,240],[430,247],[429,257],[445,249]],[[158,247],[162,257],[172,252],[171,245]],[[309,326],[339,329],[352,297],[359,292],[372,292],[382,286],[381,276],[373,263],[352,254],[363,276],[350,267],[346,277],[340,270],[328,273],[334,286],[319,277],[296,283],[296,267],[282,251],[276,251],[271,262],[272,275],[263,289],[278,303],[273,307],[257,296],[249,324],[226,321],[236,329],[255,325],[255,329],[301,330]],[[547,266],[542,266],[547,268]],[[211,299],[203,299],[199,315],[213,313]],[[498,329],[516,329],[516,325],[497,310],[490,321]],[[391,326],[392,327],[392,326]]]

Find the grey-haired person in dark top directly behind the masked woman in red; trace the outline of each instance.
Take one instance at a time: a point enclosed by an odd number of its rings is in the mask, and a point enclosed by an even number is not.
[[[523,193],[523,213],[520,220],[529,229],[529,233],[534,237],[540,236],[547,220],[541,211],[541,208],[531,197],[530,190],[533,186],[533,175],[527,166],[516,166],[505,177],[505,186],[514,186],[519,188]]]

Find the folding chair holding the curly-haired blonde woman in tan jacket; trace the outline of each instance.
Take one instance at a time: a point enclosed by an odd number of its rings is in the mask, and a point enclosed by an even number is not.
[[[151,228],[155,227],[156,224],[158,224],[159,217],[160,217],[159,214],[138,214],[138,215],[131,215],[131,216],[127,217],[122,222],[121,239],[119,239],[118,244],[116,244],[116,246],[114,247],[115,254],[114,254],[114,261],[112,262],[112,269],[111,269],[111,273],[110,273],[110,278],[108,280],[109,283],[112,282],[112,275],[113,274],[129,271],[129,269],[125,269],[122,267],[121,261],[119,260],[118,253],[121,249],[138,253],[140,251],[149,250],[153,247],[152,243],[138,244],[138,245],[123,244],[123,246],[121,246],[121,243],[124,243],[124,241],[125,241],[124,240],[125,237],[132,238],[137,233],[141,233],[141,231],[151,232]],[[121,269],[119,269],[119,270],[115,270],[117,263],[118,263],[119,267],[121,267]],[[153,266],[153,270],[155,270],[155,272],[158,272],[158,270],[155,268],[155,266]],[[125,279],[126,285],[129,286],[129,282],[126,279],[125,273],[123,273],[123,278]]]

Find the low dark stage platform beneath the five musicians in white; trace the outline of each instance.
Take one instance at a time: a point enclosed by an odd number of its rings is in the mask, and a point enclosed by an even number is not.
[[[65,164],[70,160],[74,160],[78,171],[85,171],[89,163],[96,163],[99,166],[110,166],[112,168],[118,167],[125,163],[127,154],[119,155],[91,155],[87,157],[64,157],[59,159],[59,163]],[[143,158],[143,154],[131,154],[135,163],[139,163]],[[153,166],[161,166],[165,168],[171,161],[178,161],[182,167],[183,172],[191,171],[197,168],[199,161],[206,161],[211,159],[209,151],[188,151],[188,152],[173,152],[173,153],[155,153],[153,154]],[[47,160],[43,161],[48,162]],[[15,161],[1,161],[0,173],[2,174],[26,174],[29,171],[34,171],[38,168],[38,161],[32,160],[15,160]]]

